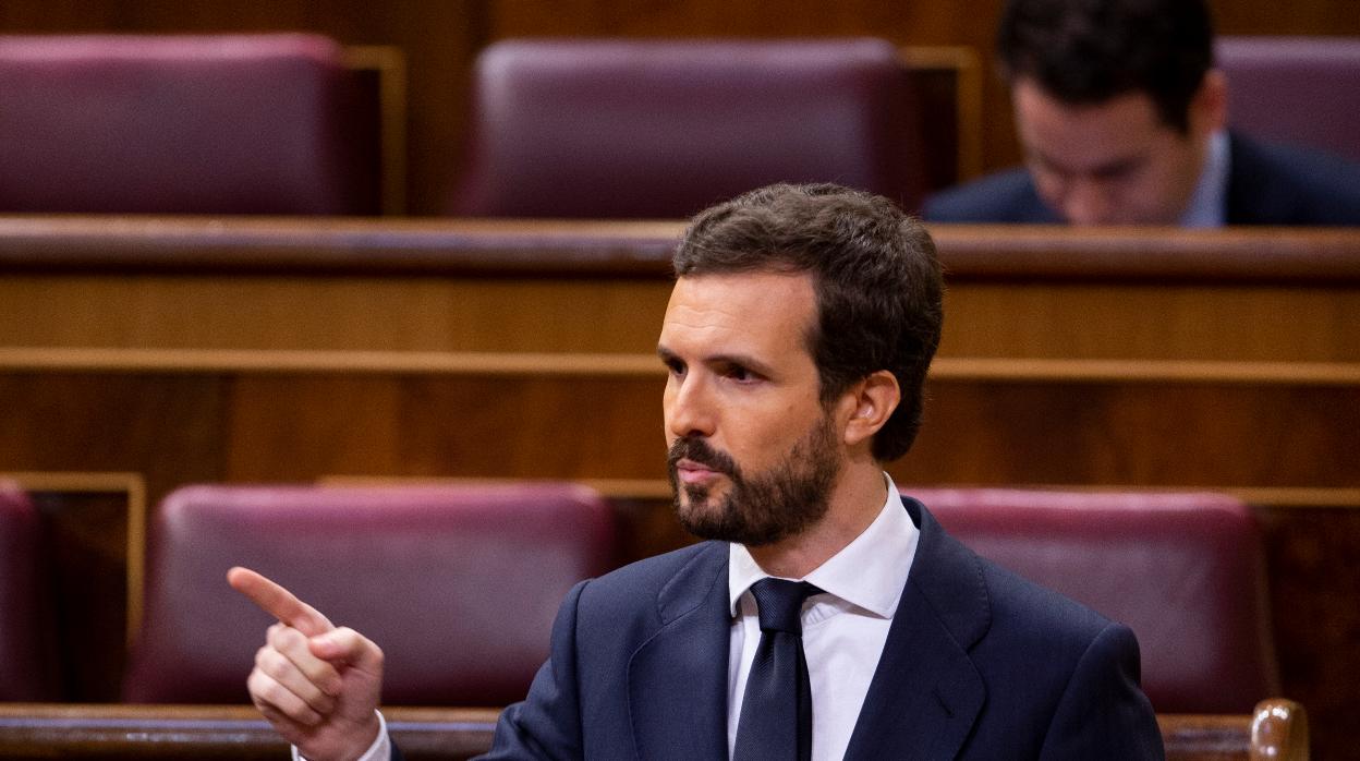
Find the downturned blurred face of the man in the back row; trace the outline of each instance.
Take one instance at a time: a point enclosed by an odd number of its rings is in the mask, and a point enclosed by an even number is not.
[[[1073,225],[1175,225],[1217,125],[1191,103],[1182,133],[1144,93],[1070,105],[1021,78],[1012,90],[1025,163],[1043,200]]]

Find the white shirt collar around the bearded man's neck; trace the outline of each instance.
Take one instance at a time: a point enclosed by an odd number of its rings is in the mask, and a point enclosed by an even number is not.
[[[888,497],[879,517],[800,581],[811,581],[853,606],[892,618],[907,584],[907,570],[921,531],[902,506],[902,497],[892,478],[883,474],[883,479],[888,486]],[[741,595],[770,574],[756,565],[745,546],[732,543],[728,553],[728,610],[737,615]]]

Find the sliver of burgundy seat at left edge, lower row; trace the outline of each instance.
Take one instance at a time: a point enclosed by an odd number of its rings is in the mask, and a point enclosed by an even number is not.
[[[18,486],[0,482],[0,700],[57,700],[50,615],[38,512]]]

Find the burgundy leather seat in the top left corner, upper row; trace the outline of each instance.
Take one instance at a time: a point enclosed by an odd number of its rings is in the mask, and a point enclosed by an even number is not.
[[[0,37],[0,212],[377,212],[356,87],[311,34]]]

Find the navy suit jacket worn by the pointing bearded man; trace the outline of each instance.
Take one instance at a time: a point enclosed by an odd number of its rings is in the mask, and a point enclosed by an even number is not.
[[[1133,633],[979,558],[917,501],[917,557],[846,758],[1161,758]],[[728,546],[582,581],[486,758],[728,757]]]

